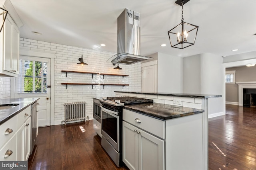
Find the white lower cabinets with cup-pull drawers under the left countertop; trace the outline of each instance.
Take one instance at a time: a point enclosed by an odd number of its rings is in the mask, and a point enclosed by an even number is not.
[[[31,147],[31,107],[0,125],[0,160],[28,160]],[[9,156],[8,156],[9,155]]]

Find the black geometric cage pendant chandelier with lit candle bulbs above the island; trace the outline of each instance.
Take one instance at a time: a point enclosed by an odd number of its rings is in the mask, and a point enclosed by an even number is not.
[[[194,45],[196,41],[198,26],[183,21],[183,5],[188,1],[189,0],[177,0],[175,2],[176,4],[182,6],[182,18],[179,25],[168,31],[171,46],[174,48],[184,49]]]

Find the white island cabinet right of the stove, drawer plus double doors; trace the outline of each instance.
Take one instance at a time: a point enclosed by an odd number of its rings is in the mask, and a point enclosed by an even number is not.
[[[126,166],[130,170],[164,170],[164,140],[156,137],[162,136],[164,121],[126,109],[123,109],[123,120],[122,159]],[[152,133],[155,131],[160,133]]]

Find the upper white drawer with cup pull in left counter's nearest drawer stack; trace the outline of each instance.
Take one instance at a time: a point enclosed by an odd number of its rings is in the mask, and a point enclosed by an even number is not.
[[[9,132],[8,132],[9,131]],[[12,131],[12,132],[11,132]],[[0,148],[17,133],[17,115],[0,126]]]

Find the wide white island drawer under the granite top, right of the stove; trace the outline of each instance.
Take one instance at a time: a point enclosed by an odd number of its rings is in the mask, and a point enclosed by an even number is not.
[[[139,119],[140,123],[136,122],[136,119]],[[162,139],[165,138],[165,122],[162,120],[142,115],[127,109],[123,109],[123,120]]]

